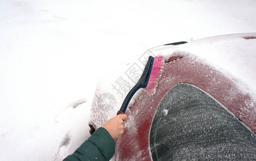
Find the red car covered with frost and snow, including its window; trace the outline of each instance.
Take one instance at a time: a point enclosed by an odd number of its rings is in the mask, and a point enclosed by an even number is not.
[[[113,159],[229,159],[239,153],[226,144],[245,152],[237,159],[253,159],[256,33],[170,43],[149,53],[165,57],[162,77],[153,96],[141,92],[128,107]],[[95,120],[104,115],[96,114],[97,106],[92,106],[92,129],[99,128]]]

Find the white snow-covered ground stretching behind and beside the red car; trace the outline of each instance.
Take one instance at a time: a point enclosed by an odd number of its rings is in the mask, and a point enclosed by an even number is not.
[[[2,0],[0,160],[63,159],[89,136],[103,74],[165,43],[256,32],[255,8],[253,0]]]

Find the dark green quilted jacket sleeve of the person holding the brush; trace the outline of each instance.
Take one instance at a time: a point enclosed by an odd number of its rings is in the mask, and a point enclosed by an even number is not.
[[[114,153],[115,142],[108,131],[101,127],[64,160],[109,160]]]

